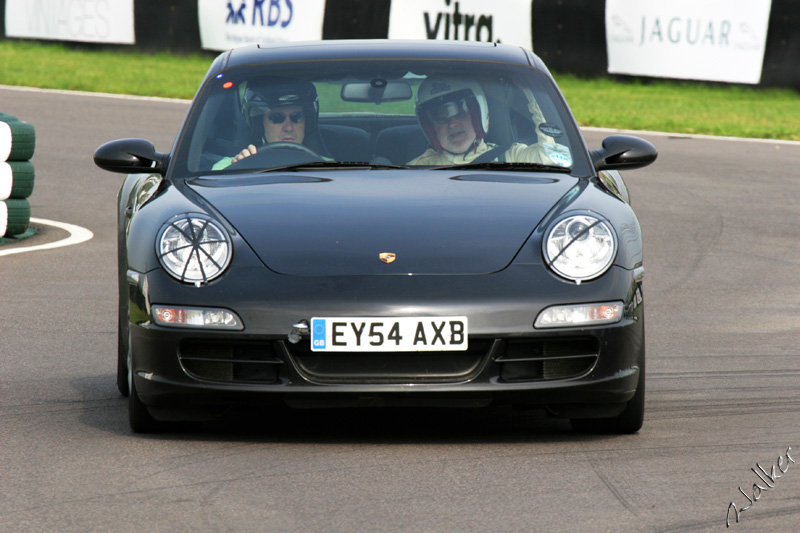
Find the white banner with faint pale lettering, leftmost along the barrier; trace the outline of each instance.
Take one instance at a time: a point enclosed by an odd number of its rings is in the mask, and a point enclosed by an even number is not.
[[[134,44],[133,0],[5,0],[6,37]]]

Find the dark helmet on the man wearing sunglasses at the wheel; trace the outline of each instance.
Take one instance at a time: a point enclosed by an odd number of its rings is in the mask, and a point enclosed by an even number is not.
[[[279,80],[260,83],[258,86],[245,87],[242,97],[242,113],[251,127],[260,127],[262,115],[287,105],[302,106],[306,117],[306,134],[315,131],[319,119],[319,97],[311,82]],[[253,121],[255,117],[258,117],[257,121]]]

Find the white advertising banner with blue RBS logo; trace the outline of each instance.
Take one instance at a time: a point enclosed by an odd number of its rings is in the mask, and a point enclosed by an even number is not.
[[[198,0],[197,16],[206,50],[313,41],[322,39],[325,0]]]

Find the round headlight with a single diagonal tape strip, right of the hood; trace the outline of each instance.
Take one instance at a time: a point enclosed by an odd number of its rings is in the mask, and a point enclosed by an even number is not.
[[[572,215],[556,223],[544,240],[544,257],[559,276],[576,283],[594,279],[611,266],[617,236],[611,226],[592,215]]]

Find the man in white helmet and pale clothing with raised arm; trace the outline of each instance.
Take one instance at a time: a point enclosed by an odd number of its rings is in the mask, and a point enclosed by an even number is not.
[[[533,93],[528,89],[523,91],[528,98],[532,119],[541,124],[544,117]],[[540,135],[540,142],[531,145],[514,143],[505,151],[486,142],[489,106],[478,83],[428,78],[417,91],[416,113],[432,148],[409,161],[408,165],[459,165],[471,163],[486,154],[480,161],[572,166],[567,147],[544,135]]]

